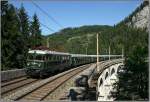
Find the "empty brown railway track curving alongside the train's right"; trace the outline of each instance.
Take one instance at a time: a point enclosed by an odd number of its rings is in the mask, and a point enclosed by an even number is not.
[[[74,77],[78,73],[82,72],[86,68],[89,68],[91,64],[80,66],[74,70],[68,71],[65,74],[62,74],[53,80],[37,87],[36,89],[27,92],[26,94],[23,94],[22,96],[19,96],[15,99],[15,101],[18,100],[36,100],[36,101],[42,101],[47,98],[52,92],[54,92],[58,87],[60,87],[63,83],[65,83],[70,78]]]

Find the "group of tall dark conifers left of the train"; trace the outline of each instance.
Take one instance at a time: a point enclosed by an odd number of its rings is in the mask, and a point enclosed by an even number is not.
[[[2,20],[2,36],[1,36],[1,55],[2,70],[13,68],[24,68],[26,63],[27,52],[32,47],[33,36],[37,39],[36,45],[40,45],[43,41],[41,31],[39,29],[39,21],[36,15],[31,23],[28,15],[23,7],[18,10],[7,1],[1,1],[1,20]]]

